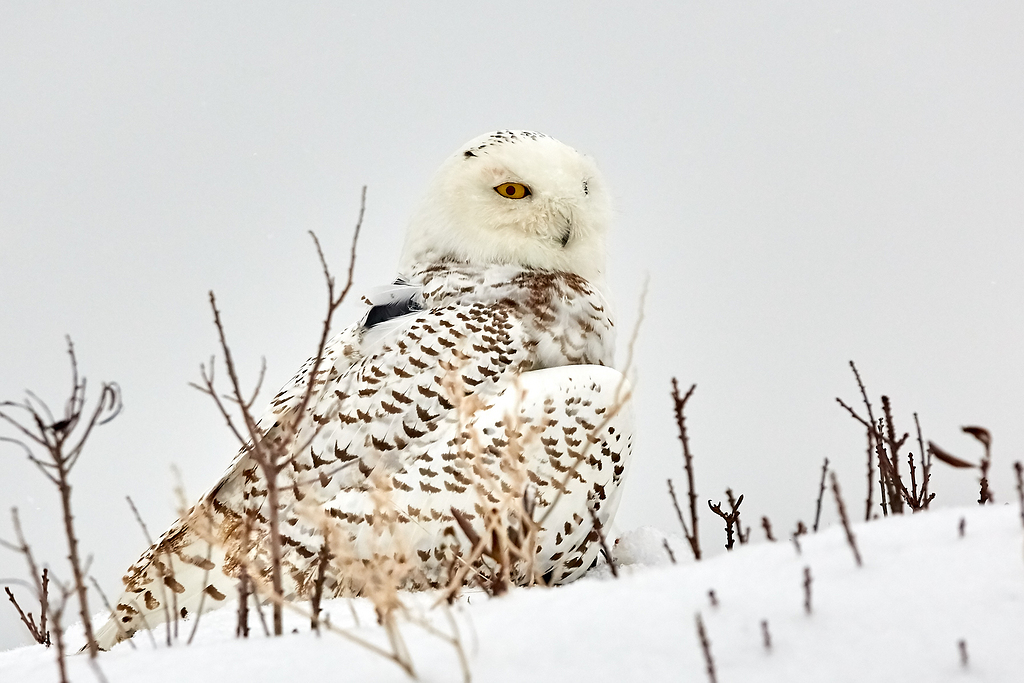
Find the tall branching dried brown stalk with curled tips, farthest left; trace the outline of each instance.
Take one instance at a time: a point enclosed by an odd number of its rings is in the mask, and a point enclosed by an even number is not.
[[[78,599],[79,615],[85,629],[89,657],[95,658],[99,649],[92,633],[92,614],[89,611],[85,571],[79,552],[78,537],[75,533],[70,475],[93,428],[106,424],[121,412],[121,389],[115,383],[101,384],[98,400],[91,411],[87,411],[86,380],[78,374],[75,345],[71,337],[67,339],[68,355],[71,357],[72,388],[71,394],[65,401],[63,414],[55,417],[46,402],[31,391],[26,392],[27,397],[22,402],[0,402],[0,420],[13,427],[19,434],[17,438],[0,436],[0,441],[19,446],[29,461],[57,487],[60,495],[63,532],[68,541],[68,559],[74,577],[72,591]],[[22,413],[22,417],[14,417],[15,412]]]

